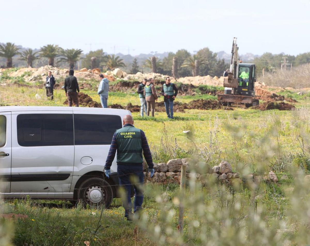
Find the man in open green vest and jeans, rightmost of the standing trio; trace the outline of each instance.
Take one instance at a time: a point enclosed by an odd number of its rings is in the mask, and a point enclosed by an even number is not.
[[[170,119],[173,119],[173,101],[177,94],[178,88],[176,88],[175,84],[170,83],[170,77],[166,77],[166,82],[162,85],[162,95],[164,96],[166,113]]]

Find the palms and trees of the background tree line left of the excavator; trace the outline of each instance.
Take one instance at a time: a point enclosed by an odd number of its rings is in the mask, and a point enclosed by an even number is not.
[[[12,58],[16,55],[19,55],[20,60],[26,61],[29,67],[33,67],[33,62],[43,57],[48,59],[48,65],[50,66],[65,62],[70,69],[74,68],[80,59],[82,59],[82,67],[87,69],[101,68],[105,71],[126,67],[123,59],[119,56],[107,55],[102,49],[90,51],[86,54],[86,57],[81,57],[82,52],[81,49],[63,49],[53,44],[43,46],[37,52],[32,49],[19,52],[19,48],[10,42],[0,45],[0,56],[7,59],[7,68],[13,66]],[[228,65],[225,64],[224,59],[217,60],[216,53],[204,48],[195,55],[191,55],[185,49],[176,53],[170,52],[162,61],[153,56],[146,59],[142,66],[139,66],[137,59],[134,58],[129,66],[131,66],[130,73],[143,72],[146,69],[170,76],[186,77],[207,74],[220,76]]]

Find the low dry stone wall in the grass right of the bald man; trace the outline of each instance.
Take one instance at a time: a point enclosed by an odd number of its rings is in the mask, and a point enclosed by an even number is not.
[[[180,183],[181,181],[181,167],[186,165],[186,178],[189,179],[191,175],[195,175],[197,180],[204,183],[207,179],[215,178],[222,183],[230,183],[233,180],[237,181],[253,181],[253,182],[278,182],[277,175],[274,172],[269,172],[263,177],[256,174],[248,174],[240,177],[238,173],[232,172],[232,166],[227,161],[221,161],[219,165],[208,168],[205,162],[197,162],[191,158],[173,159],[167,163],[154,163],[154,176],[151,178],[150,173],[147,172],[147,165],[144,163],[144,182],[153,183]],[[195,169],[196,173],[191,174],[190,171]],[[203,170],[203,171],[202,171]],[[310,175],[309,175],[310,176]]]

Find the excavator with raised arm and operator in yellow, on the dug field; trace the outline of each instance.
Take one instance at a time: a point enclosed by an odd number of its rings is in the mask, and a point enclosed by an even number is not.
[[[238,55],[237,38],[232,42],[232,58],[228,77],[224,77],[224,94],[218,94],[222,104],[242,103],[246,107],[257,106],[255,98],[256,67],[252,63],[242,63]]]

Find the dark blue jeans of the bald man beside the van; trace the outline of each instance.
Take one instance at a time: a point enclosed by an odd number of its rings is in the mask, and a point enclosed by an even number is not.
[[[143,167],[141,166],[130,166],[130,165],[117,165],[117,175],[119,179],[119,184],[125,188],[127,201],[123,201],[123,206],[125,208],[125,217],[129,217],[131,214],[132,204],[131,204],[131,177],[136,176],[139,180],[139,186],[133,185],[134,187],[134,213],[142,209],[143,203],[143,191],[141,187],[144,183]]]

